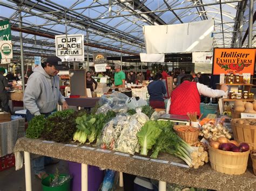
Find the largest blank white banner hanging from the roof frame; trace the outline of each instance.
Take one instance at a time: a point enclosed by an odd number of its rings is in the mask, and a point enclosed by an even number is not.
[[[143,26],[147,54],[204,52],[212,49],[214,21]]]

